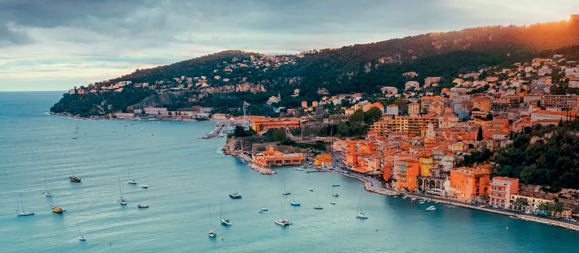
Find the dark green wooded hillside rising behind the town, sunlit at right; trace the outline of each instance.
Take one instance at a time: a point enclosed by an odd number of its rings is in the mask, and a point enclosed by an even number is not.
[[[552,54],[559,48],[576,44],[579,44],[577,21],[528,27],[479,27],[324,49],[297,56],[223,51],[171,65],[138,69],[126,76],[95,83],[95,86],[132,81],[133,84],[156,84],[157,90],[181,88],[184,90],[173,92],[179,100],[171,103],[175,107],[221,105],[223,109],[239,107],[243,101],[261,104],[278,92],[285,98],[295,88],[300,88],[301,99],[283,99],[281,103],[292,107],[298,106],[301,100],[311,101],[323,96],[318,94],[320,88],[327,89],[329,94],[372,93],[378,92],[383,85],[401,88],[408,80],[424,80],[428,76],[442,76],[444,82],[449,83],[450,77],[457,73],[490,65],[511,65],[536,57],[541,51]],[[417,76],[406,77],[403,75],[406,72],[416,72]],[[191,80],[180,80],[181,77]],[[107,95],[100,96],[107,100]],[[93,106],[89,105],[93,99],[83,97],[65,96],[51,110],[79,114],[79,109],[71,110],[64,105],[72,103],[85,107],[82,111],[86,112],[86,107]],[[131,100],[145,97],[144,92]],[[86,102],[76,101],[78,99]],[[126,109],[120,105],[112,107],[112,110]]]

